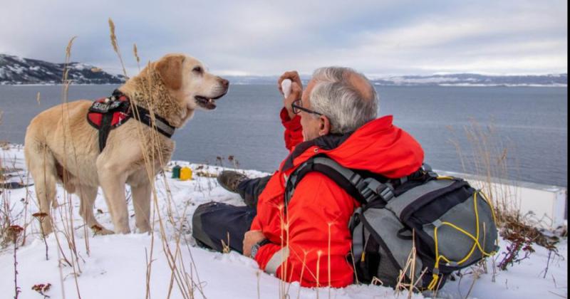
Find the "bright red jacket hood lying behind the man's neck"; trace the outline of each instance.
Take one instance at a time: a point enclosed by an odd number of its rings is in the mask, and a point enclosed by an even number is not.
[[[422,166],[423,149],[392,120],[393,116],[388,115],[368,122],[349,136],[327,135],[302,142],[281,164],[281,171],[286,172],[316,154],[326,154],[344,167],[388,178],[412,174]]]

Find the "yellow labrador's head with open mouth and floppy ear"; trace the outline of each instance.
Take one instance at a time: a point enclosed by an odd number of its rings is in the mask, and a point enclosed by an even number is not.
[[[215,100],[229,88],[228,80],[212,75],[196,58],[183,54],[168,54],[155,62],[162,82],[189,110],[216,108]]]

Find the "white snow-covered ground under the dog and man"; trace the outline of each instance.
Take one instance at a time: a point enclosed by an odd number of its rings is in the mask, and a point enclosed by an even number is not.
[[[24,183],[28,178],[23,147],[10,145],[0,150],[1,167],[14,169],[4,174],[9,181]],[[157,176],[157,201],[153,211],[153,234],[93,236],[78,215],[79,200],[66,196],[58,187],[55,221],[60,231],[44,243],[38,221],[31,216],[38,211],[33,186],[23,189],[0,189],[0,221],[9,214],[11,224],[25,228],[16,251],[19,298],[43,298],[33,285],[51,284],[46,295],[51,298],[407,298],[376,285],[351,285],[348,288],[299,288],[285,284],[259,271],[257,263],[237,253],[214,253],[195,246],[192,239],[192,214],[199,204],[220,201],[243,204],[237,194],[218,186],[217,174],[222,167],[177,162],[190,166],[191,181],[170,179],[171,172]],[[231,163],[227,163],[231,164]],[[173,162],[170,163],[170,166]],[[228,165],[229,166],[229,165]],[[21,170],[18,170],[21,169]],[[244,171],[250,176],[264,173]],[[170,190],[170,191],[169,191]],[[130,196],[128,196],[130,199]],[[71,206],[67,203],[71,202]],[[130,204],[130,214],[133,206]],[[71,217],[67,216],[71,210]],[[113,228],[103,199],[95,201],[95,215],[101,224]],[[160,215],[160,219],[159,219]],[[131,217],[131,228],[134,228]],[[72,229],[70,229],[72,228]],[[56,238],[57,236],[57,238]],[[74,239],[74,241],[73,241]],[[70,241],[68,241],[70,240]],[[75,243],[75,250],[68,243]],[[46,260],[46,246],[47,256]],[[501,240],[502,250],[507,242]],[[58,248],[61,247],[61,250]],[[559,256],[549,258],[545,248],[535,245],[530,258],[507,271],[496,269],[487,261],[488,273],[480,268],[463,271],[460,278],[449,281],[438,293],[442,298],[566,298],[568,295],[567,240],[559,243]],[[500,261],[502,253],[494,257]],[[546,270],[547,268],[547,270]],[[173,270],[174,269],[174,270]],[[0,249],[1,298],[13,298],[14,246]],[[478,278],[476,278],[478,276]],[[147,297],[147,290],[150,296]],[[429,294],[425,294],[429,295]],[[423,298],[413,294],[413,298]]]

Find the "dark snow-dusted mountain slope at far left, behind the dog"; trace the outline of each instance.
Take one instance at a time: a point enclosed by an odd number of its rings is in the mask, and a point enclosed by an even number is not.
[[[61,84],[64,63],[0,54],[0,85]],[[68,64],[68,79],[74,84],[120,84],[123,75],[111,75],[85,63]]]

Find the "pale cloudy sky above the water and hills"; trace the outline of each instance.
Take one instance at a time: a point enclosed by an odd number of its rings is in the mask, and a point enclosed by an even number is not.
[[[129,73],[182,52],[214,73],[309,74],[346,65],[371,76],[567,73],[566,0],[41,1],[1,0],[0,53],[72,60],[120,73],[108,18]]]

